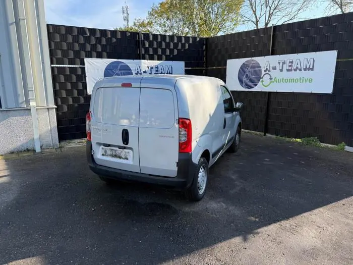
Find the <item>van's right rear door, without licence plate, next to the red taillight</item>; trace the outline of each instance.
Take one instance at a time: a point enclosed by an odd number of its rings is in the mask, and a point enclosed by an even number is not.
[[[141,173],[175,177],[179,157],[177,94],[174,85],[158,84],[160,79],[154,78],[152,85],[157,88],[144,87],[144,80],[141,82],[139,128]]]

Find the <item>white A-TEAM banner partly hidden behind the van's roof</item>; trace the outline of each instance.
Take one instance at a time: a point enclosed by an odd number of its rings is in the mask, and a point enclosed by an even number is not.
[[[90,95],[94,84],[103,77],[124,75],[185,74],[184,62],[115,60],[85,58],[87,92]]]

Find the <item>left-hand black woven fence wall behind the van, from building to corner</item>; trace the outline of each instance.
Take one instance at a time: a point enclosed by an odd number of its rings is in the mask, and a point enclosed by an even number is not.
[[[204,75],[205,38],[50,24],[47,30],[59,140],[86,137],[84,58],[185,61],[186,74]]]

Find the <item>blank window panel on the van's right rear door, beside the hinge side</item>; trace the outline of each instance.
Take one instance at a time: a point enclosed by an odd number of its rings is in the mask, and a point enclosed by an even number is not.
[[[171,91],[141,88],[140,127],[171,128],[174,122],[174,100]]]

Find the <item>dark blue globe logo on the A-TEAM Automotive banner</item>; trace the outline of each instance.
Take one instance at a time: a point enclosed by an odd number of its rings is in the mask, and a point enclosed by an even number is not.
[[[242,87],[252,89],[259,84],[261,75],[262,69],[259,62],[250,59],[245,61],[239,68],[238,80]]]

